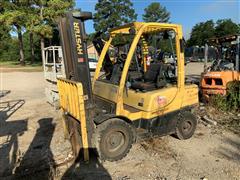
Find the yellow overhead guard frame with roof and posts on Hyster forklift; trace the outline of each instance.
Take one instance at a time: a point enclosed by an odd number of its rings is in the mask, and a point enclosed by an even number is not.
[[[101,52],[101,55],[98,60],[98,65],[94,74],[93,78],[93,91],[95,89],[95,83],[100,76],[100,70],[104,66],[103,61],[105,59],[105,55],[107,54],[108,48],[110,47],[110,44],[115,37],[115,35],[118,34],[133,34],[134,38],[130,45],[124,67],[122,69],[122,74],[120,77],[120,83],[117,86],[117,108],[116,113],[119,114],[121,110],[124,110],[123,108],[123,92],[124,87],[127,79],[128,69],[133,57],[133,54],[135,52],[135,49],[137,47],[137,44],[139,40],[143,37],[145,34],[151,34],[155,32],[164,32],[165,30],[173,30],[175,32],[175,43],[176,43],[176,55],[177,55],[177,88],[179,91],[184,90],[184,52],[183,52],[183,37],[182,37],[182,26],[177,24],[167,24],[167,23],[143,23],[143,22],[134,22],[130,24],[126,24],[123,26],[120,26],[118,28],[113,28],[109,31],[110,37],[109,40],[104,45],[104,48]],[[147,45],[146,45],[147,47]]]

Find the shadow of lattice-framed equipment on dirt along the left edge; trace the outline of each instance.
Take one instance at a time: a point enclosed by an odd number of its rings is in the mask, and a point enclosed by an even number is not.
[[[24,103],[24,100],[0,103],[0,178],[11,174],[17,162],[18,137],[27,130],[27,119],[10,121],[9,117]]]

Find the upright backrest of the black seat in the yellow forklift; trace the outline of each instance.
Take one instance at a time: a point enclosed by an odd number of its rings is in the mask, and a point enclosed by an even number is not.
[[[151,63],[148,70],[144,74],[145,82],[156,82],[160,72],[161,63]]]

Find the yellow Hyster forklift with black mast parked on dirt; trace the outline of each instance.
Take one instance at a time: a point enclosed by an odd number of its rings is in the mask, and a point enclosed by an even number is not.
[[[101,54],[91,79],[84,28],[91,18],[79,11],[59,21],[66,78],[58,78],[57,85],[64,132],[75,157],[83,152],[88,161],[93,149],[101,160],[117,161],[143,137],[192,137],[198,86],[185,81],[182,27],[133,22],[111,29],[105,43],[95,38]],[[155,52],[161,53],[149,53],[154,37],[172,42],[175,71],[164,63],[161,43],[155,43]]]

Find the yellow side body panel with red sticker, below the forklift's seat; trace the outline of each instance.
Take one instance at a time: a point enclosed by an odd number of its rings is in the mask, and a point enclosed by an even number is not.
[[[124,93],[124,104],[139,109],[139,112],[132,113],[124,109],[120,111],[120,115],[126,116],[132,121],[140,118],[151,119],[183,107],[198,104],[197,85],[185,85],[183,90],[179,90],[177,87],[158,89],[145,93],[129,90],[128,96]],[[164,103],[164,101],[157,102],[158,97],[166,97],[166,104],[158,104]],[[139,106],[138,102],[143,102],[143,106]]]

